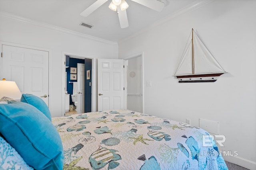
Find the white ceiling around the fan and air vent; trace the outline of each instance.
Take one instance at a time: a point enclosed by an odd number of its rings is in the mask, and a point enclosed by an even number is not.
[[[80,13],[96,0],[0,0],[0,12],[118,42],[156,21],[209,0],[167,0],[162,12],[126,0],[129,4],[126,10],[129,27],[124,29],[120,28],[118,14],[108,8],[110,1],[88,17],[82,17]],[[81,26],[81,22],[94,27]]]

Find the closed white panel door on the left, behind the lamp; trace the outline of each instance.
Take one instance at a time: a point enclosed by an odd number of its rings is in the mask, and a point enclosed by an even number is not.
[[[21,93],[41,97],[48,106],[48,51],[2,45],[2,78],[15,81]]]

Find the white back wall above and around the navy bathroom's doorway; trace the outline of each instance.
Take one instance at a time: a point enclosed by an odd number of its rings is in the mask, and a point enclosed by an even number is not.
[[[62,52],[93,59],[93,106],[96,111],[96,59],[118,58],[117,43],[95,38],[86,38],[78,33],[0,13],[0,41],[49,49],[50,97],[49,108],[52,117],[62,115]],[[53,29],[52,29],[53,28]],[[86,28],[85,28],[86,29]],[[58,31],[60,30],[60,31]],[[65,33],[65,31],[67,33]],[[2,47],[0,48],[2,51]],[[63,62],[63,63],[62,63]],[[64,86],[64,85],[63,85]],[[64,114],[64,113],[63,113]]]

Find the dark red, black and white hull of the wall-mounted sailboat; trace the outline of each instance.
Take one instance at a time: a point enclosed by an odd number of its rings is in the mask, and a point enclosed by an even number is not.
[[[213,74],[191,74],[176,76],[179,83],[196,83],[196,82],[216,82],[219,76],[224,73],[213,73]]]

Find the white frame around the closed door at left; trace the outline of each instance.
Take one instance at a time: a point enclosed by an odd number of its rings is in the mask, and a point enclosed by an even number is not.
[[[20,47],[20,48],[25,48],[25,49],[33,49],[33,50],[40,50],[40,51],[46,51],[48,52],[48,108],[49,110],[51,109],[51,72],[52,72],[52,50],[51,49],[46,49],[42,47],[35,47],[32,45],[24,45],[24,44],[18,44],[18,43],[10,43],[10,42],[5,42],[5,41],[0,41],[0,53],[2,54],[2,46],[3,45],[9,45],[9,46],[14,46],[14,47]],[[2,67],[2,57],[0,57],[0,66]],[[0,69],[0,77],[2,77],[2,69]]]

